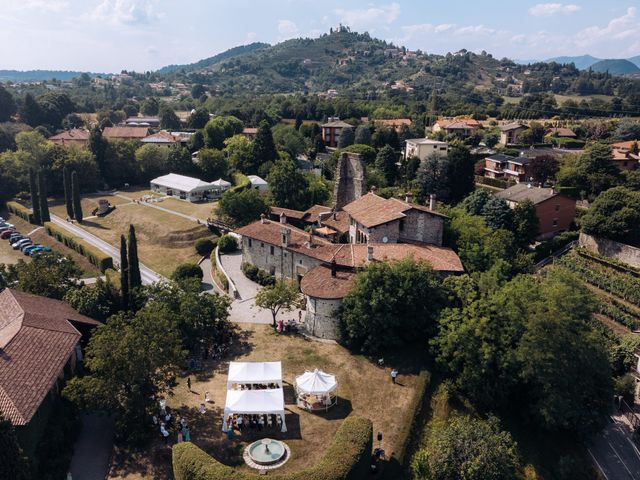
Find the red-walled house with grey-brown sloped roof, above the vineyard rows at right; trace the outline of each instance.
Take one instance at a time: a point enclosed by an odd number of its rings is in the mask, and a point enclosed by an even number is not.
[[[530,200],[536,207],[540,222],[539,238],[549,238],[569,229],[576,216],[576,201],[559,194],[554,188],[534,187],[520,183],[495,194],[504,199],[509,207]]]

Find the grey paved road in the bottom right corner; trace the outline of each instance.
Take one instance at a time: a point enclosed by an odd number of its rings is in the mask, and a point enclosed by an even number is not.
[[[640,480],[640,451],[620,417],[612,417],[605,429],[591,439],[589,454],[605,480]]]

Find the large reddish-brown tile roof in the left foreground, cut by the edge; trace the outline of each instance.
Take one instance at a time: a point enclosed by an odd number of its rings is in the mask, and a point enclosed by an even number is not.
[[[59,300],[0,292],[0,411],[26,425],[80,340],[71,322],[99,325]]]

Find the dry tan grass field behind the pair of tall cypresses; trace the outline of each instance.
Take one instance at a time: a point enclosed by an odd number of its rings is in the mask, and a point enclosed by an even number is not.
[[[170,276],[184,262],[196,262],[193,244],[207,236],[206,227],[145,205],[123,205],[106,217],[92,218],[81,225],[85,230],[120,246],[120,235],[129,225],[136,227],[138,255],[142,263],[158,273]]]

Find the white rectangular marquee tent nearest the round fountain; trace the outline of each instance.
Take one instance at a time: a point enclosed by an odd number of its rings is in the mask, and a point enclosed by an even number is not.
[[[233,363],[233,362],[232,362]],[[280,362],[277,362],[280,363]],[[282,388],[267,390],[227,390],[222,431],[227,431],[229,415],[275,414],[282,420],[282,431],[287,431],[284,422],[284,393]]]

